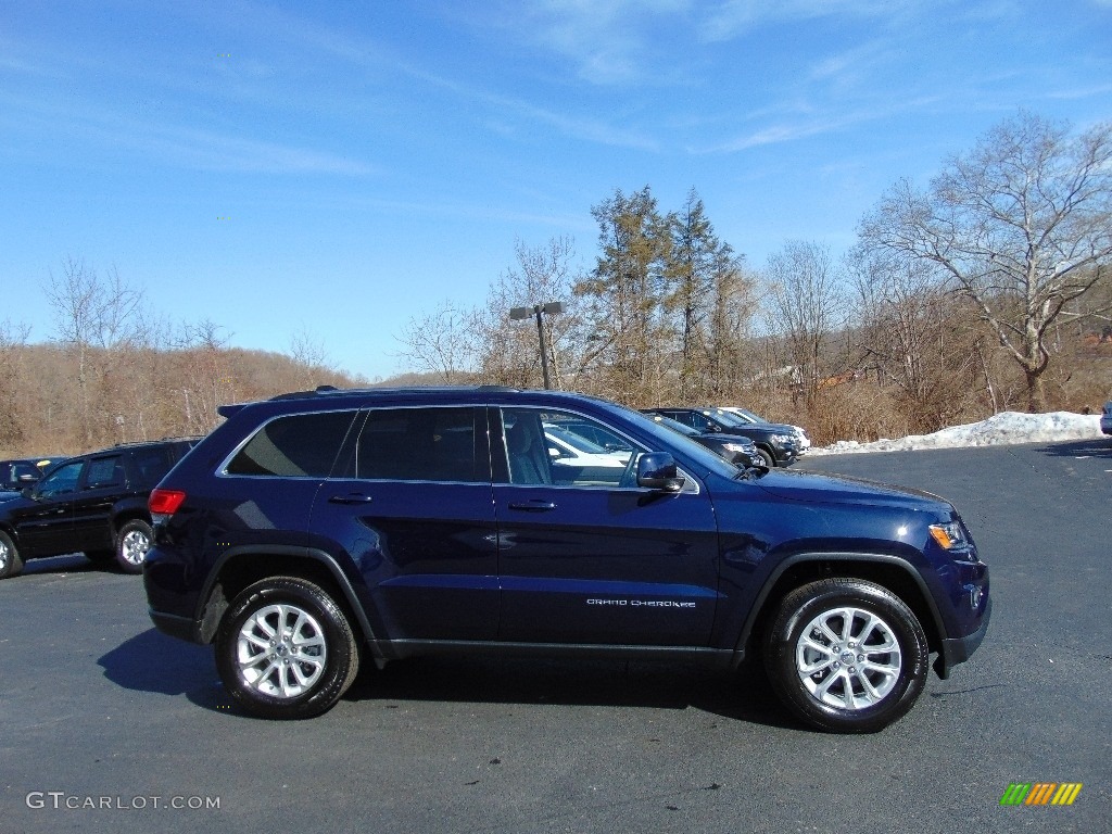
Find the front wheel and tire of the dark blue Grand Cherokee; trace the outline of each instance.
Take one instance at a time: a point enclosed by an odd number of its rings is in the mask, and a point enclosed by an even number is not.
[[[831,733],[875,733],[902,717],[923,692],[929,659],[923,626],[902,599],[844,577],[784,597],[764,653],[781,699]]]

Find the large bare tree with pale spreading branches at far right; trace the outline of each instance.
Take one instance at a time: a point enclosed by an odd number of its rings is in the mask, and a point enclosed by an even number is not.
[[[903,180],[861,224],[866,247],[943,269],[1045,405],[1046,338],[1112,264],[1112,122],[1079,137],[1025,112],[950,158],[925,191]]]

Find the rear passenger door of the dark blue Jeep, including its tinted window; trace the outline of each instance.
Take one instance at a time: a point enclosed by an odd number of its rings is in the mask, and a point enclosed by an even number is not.
[[[355,563],[379,637],[497,636],[487,434],[480,406],[370,408],[344,471],[324,484],[314,536]]]

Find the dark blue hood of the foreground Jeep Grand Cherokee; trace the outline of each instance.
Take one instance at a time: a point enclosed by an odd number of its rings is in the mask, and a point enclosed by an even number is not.
[[[866,504],[904,507],[949,518],[954,509],[945,499],[932,493],[910,487],[880,484],[864,478],[811,471],[772,469],[757,486],[780,500],[803,504]]]

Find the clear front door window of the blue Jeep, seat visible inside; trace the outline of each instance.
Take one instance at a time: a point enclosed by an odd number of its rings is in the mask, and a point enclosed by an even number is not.
[[[633,445],[608,449],[592,438],[615,437],[613,429],[586,417],[533,408],[503,409],[510,484],[617,487]]]

